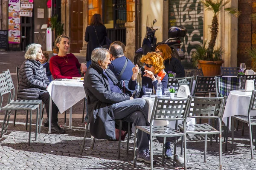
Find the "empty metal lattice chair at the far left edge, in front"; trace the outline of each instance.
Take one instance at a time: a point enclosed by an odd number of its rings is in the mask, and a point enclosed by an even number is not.
[[[2,107],[3,104],[3,95],[9,94],[9,98],[7,101],[7,105]],[[5,76],[5,73],[0,74],[0,110],[5,110],[5,116],[3,120],[2,130],[1,130],[1,136],[3,136],[3,132],[7,131],[10,115],[12,111],[19,110],[19,111],[30,111],[30,121],[29,121],[29,146],[30,146],[30,138],[31,138],[31,124],[32,124],[32,111],[37,110],[36,114],[36,126],[38,126],[38,105],[21,105],[21,104],[9,104],[12,98],[12,93],[9,89],[9,85],[7,83],[7,79]],[[7,119],[8,116],[8,119]],[[7,119],[7,122],[6,122]],[[37,138],[37,128],[35,132],[35,140]]]

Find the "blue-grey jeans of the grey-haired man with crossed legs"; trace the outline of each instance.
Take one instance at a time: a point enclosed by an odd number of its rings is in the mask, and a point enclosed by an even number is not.
[[[135,126],[148,126],[148,103],[144,99],[131,99],[112,105],[115,119],[133,122]],[[149,146],[149,135],[138,130],[138,152],[142,153]]]

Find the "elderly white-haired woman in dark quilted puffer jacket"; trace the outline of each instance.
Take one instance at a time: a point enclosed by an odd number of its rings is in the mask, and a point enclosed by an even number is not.
[[[47,112],[47,119],[44,126],[49,126],[49,100],[47,86],[49,79],[44,72],[44,67],[39,62],[44,56],[40,44],[29,44],[26,47],[25,61],[19,71],[19,99],[41,99],[44,102]],[[58,108],[52,105],[52,132],[65,133],[65,130],[58,125]]]

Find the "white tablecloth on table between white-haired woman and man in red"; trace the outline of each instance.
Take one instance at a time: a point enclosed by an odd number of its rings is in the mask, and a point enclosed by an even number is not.
[[[86,97],[84,82],[81,80],[52,81],[47,91],[60,113],[63,113]]]

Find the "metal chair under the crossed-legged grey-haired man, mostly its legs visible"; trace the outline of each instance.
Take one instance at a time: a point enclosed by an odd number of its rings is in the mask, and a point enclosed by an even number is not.
[[[85,92],[86,96],[87,93]],[[117,153],[117,158],[120,159],[120,147],[121,147],[121,133],[122,133],[122,122],[123,120],[122,119],[116,119],[115,120],[116,122],[119,122],[119,140],[118,140],[118,153]],[[89,126],[89,118],[87,118],[87,122],[85,124],[86,128],[85,128],[85,131],[84,131],[84,139],[83,139],[83,143],[81,145],[81,150],[80,150],[80,155],[83,154],[83,151],[84,151],[84,144],[85,144],[85,139],[86,139],[86,135],[87,135],[87,130],[88,130],[88,126]],[[127,138],[127,147],[126,147],[126,153],[128,154],[129,153],[129,140],[130,140],[130,135],[131,135],[131,123],[128,123],[128,138]],[[92,146],[91,146],[91,150],[93,150],[93,147],[94,147],[94,143],[95,143],[95,137],[93,137],[93,143],[92,143]]]

